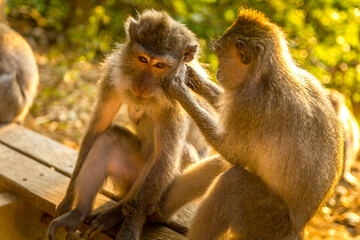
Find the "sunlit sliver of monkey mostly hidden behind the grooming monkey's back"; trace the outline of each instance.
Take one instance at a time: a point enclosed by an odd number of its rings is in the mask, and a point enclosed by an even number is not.
[[[344,94],[335,89],[326,89],[326,94],[330,98],[335,112],[344,126],[345,151],[343,178],[351,184],[356,184],[359,180],[351,174],[351,166],[358,158],[360,150],[359,124],[356,121],[354,114],[346,106]]]

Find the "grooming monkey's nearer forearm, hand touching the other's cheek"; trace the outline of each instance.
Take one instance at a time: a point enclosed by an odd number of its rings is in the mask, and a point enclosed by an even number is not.
[[[207,142],[226,160],[236,162],[237,157],[228,151],[226,133],[222,130],[216,117],[213,117],[192,96],[185,83],[178,78],[171,79],[164,90],[176,99],[194,120]]]

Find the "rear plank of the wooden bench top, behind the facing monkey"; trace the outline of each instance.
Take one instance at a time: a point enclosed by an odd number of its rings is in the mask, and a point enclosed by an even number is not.
[[[56,171],[71,176],[78,152],[60,144],[46,136],[38,134],[18,124],[0,126],[0,143],[3,143],[18,152],[55,168]],[[106,189],[106,196],[112,198]],[[189,204],[172,217],[168,227],[185,233],[197,209],[196,204]]]

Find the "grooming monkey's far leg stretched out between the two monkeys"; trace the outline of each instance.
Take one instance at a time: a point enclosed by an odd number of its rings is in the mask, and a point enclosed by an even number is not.
[[[185,169],[163,196],[160,214],[167,220],[186,203],[202,197],[211,182],[230,164],[214,155]]]

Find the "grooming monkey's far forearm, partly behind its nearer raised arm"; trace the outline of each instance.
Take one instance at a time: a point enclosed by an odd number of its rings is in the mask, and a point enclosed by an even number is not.
[[[188,76],[187,85],[217,109],[219,95],[223,92],[222,88],[207,77],[201,76],[201,74],[197,73],[196,69],[188,65],[186,67]]]

